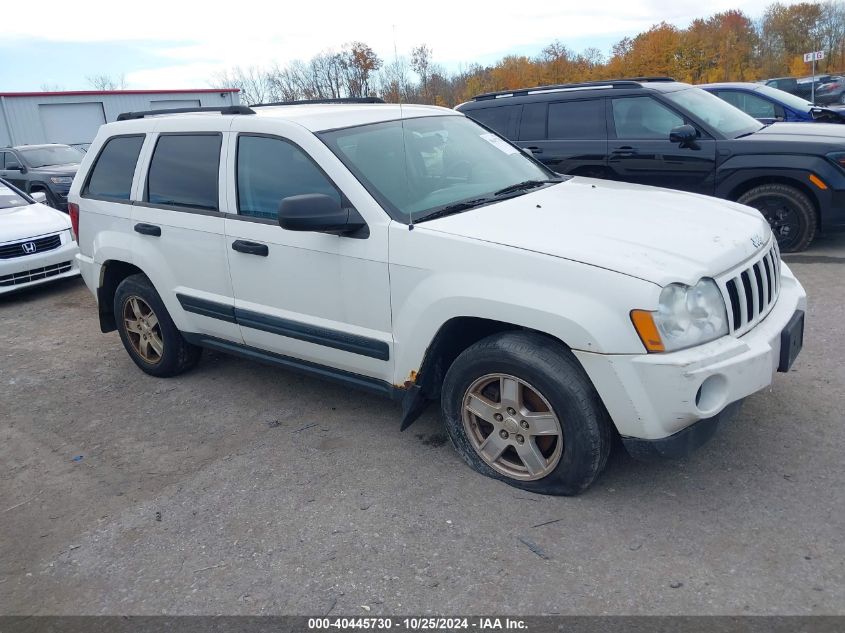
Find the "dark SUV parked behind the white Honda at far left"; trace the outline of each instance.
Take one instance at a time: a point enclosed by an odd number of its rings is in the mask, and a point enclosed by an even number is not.
[[[42,191],[47,204],[67,211],[67,192],[84,156],[69,145],[0,147],[0,178],[28,194]]]

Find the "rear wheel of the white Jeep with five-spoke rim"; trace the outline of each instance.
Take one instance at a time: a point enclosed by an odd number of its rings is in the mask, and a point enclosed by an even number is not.
[[[185,340],[146,275],[120,282],[114,316],[129,356],[151,376],[176,376],[199,361],[202,349]]]

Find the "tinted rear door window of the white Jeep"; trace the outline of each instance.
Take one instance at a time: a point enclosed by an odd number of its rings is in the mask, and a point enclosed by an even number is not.
[[[164,134],[147,176],[147,201],[218,210],[220,134]]]

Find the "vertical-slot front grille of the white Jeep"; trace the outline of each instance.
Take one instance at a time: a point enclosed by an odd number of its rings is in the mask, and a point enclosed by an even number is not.
[[[725,306],[731,333],[742,336],[766,318],[780,293],[780,251],[777,241],[751,263],[745,263],[717,280]]]

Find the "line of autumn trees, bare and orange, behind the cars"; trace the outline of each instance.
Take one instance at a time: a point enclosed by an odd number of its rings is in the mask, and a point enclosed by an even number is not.
[[[423,44],[392,60],[363,42],[328,49],[310,60],[265,68],[234,67],[209,82],[241,89],[244,103],[378,96],[388,102],[454,106],[494,90],[638,76],[679,81],[755,81],[808,75],[803,54],[822,50],[817,72],[845,71],[845,0],[770,4],[759,17],[733,9],[693,20],[666,22],[624,37],[608,55],[573,51],[554,41],[535,56],[508,55],[482,66],[447,71]]]

